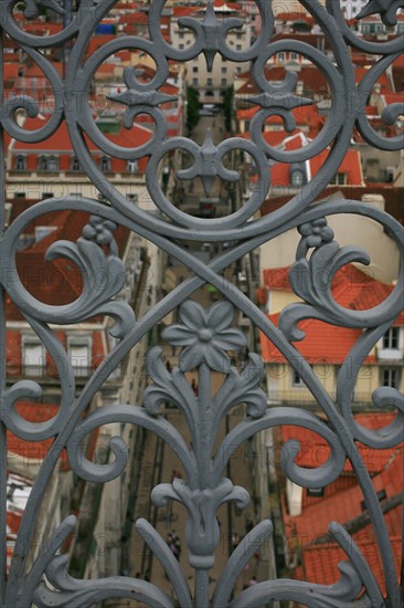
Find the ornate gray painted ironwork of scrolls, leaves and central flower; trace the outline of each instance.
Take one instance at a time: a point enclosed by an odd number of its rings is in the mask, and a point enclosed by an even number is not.
[[[337,213],[366,214],[382,224],[392,235],[401,252],[403,262],[403,228],[386,213],[370,208],[357,201],[334,200],[321,206],[309,207],[310,202],[323,190],[330,178],[345,156],[350,144],[353,127],[357,126],[365,141],[372,146],[395,150],[401,146],[401,138],[384,138],[375,133],[366,119],[364,105],[369,91],[379,76],[393,63],[402,50],[402,40],[390,40],[383,43],[371,43],[355,36],[347,27],[340,11],[338,0],[327,0],[327,8],[317,0],[301,0],[301,4],[312,14],[322,29],[332,49],[334,62],[319,50],[294,40],[270,42],[274,28],[272,2],[255,0],[263,21],[263,31],[253,45],[245,51],[235,51],[227,46],[225,36],[231,28],[243,24],[240,19],[228,19],[222,23],[216,21],[212,1],[206,1],[205,18],[203,21],[193,18],[183,18],[182,24],[194,32],[195,41],[187,50],[178,50],[163,39],[160,31],[160,17],[166,0],[152,0],[149,8],[149,40],[125,35],[105,44],[92,56],[85,59],[85,50],[95,27],[114,7],[116,0],[82,0],[79,9],[73,14],[72,21],[57,34],[41,38],[20,29],[13,19],[14,0],[2,0],[0,6],[1,25],[7,34],[24,50],[32,61],[40,66],[49,78],[54,96],[55,108],[50,122],[36,132],[24,130],[18,125],[14,113],[24,108],[30,116],[38,115],[39,107],[33,98],[26,95],[6,99],[1,108],[1,128],[11,137],[22,141],[39,143],[50,137],[62,120],[68,127],[70,137],[82,168],[89,179],[105,196],[108,203],[100,203],[91,199],[76,200],[74,197],[51,199],[39,202],[22,213],[6,231],[1,230],[1,282],[2,289],[19,306],[34,332],[45,344],[55,361],[60,361],[60,381],[62,386],[61,408],[54,419],[45,424],[36,426],[18,417],[13,403],[21,397],[39,394],[41,388],[31,380],[14,384],[9,390],[4,388],[4,315],[0,329],[1,337],[1,605],[8,607],[29,607],[32,604],[39,607],[65,606],[68,608],[91,606],[102,599],[120,597],[136,598],[148,606],[174,606],[173,600],[159,590],[156,585],[129,577],[114,577],[103,580],[76,580],[66,572],[66,556],[55,555],[63,545],[63,541],[75,527],[75,518],[67,517],[55,530],[47,549],[42,553],[28,569],[26,558],[33,538],[33,522],[44,497],[46,484],[50,481],[55,452],[66,448],[73,470],[86,480],[103,482],[119,475],[125,468],[127,454],[123,442],[114,439],[110,449],[116,460],[104,467],[96,467],[92,462],[78,458],[76,447],[81,439],[92,429],[109,421],[121,421],[142,426],[171,445],[181,460],[187,472],[187,481],[174,480],[172,483],[160,484],[152,492],[152,501],[163,505],[167,501],[179,501],[188,510],[187,543],[189,562],[195,570],[194,591],[191,593],[180,565],[167,549],[164,541],[151,527],[139,520],[137,528],[149,543],[155,556],[166,568],[167,575],[176,594],[176,605],[181,608],[208,608],[232,606],[241,608],[248,606],[259,607],[275,600],[289,599],[305,602],[310,607],[390,607],[400,605],[400,588],[394,572],[392,547],[381,506],[376,499],[370,476],[363,467],[355,441],[360,440],[372,448],[382,449],[394,447],[401,440],[401,424],[403,422],[403,398],[394,389],[380,388],[374,395],[374,402],[379,406],[394,406],[397,409],[395,421],[385,431],[374,432],[362,428],[353,419],[350,397],[353,390],[354,375],[347,380],[341,373],[338,379],[337,399],[333,401],[325,391],[322,385],[312,374],[310,366],[304,363],[299,366],[299,374],[312,392],[319,407],[327,416],[326,423],[318,416],[297,408],[270,407],[266,405],[266,396],[259,388],[263,374],[261,358],[252,354],[249,365],[244,373],[238,374],[230,365],[227,350],[240,348],[244,344],[242,332],[231,327],[234,313],[233,306],[251,318],[253,324],[273,340],[276,347],[288,358],[291,365],[297,360],[297,350],[291,340],[301,339],[301,332],[297,323],[306,317],[315,317],[338,326],[360,327],[363,329],[350,354],[350,360],[357,361],[358,373],[365,355],[380,339],[401,311],[403,297],[403,264],[396,289],[393,294],[380,306],[371,312],[357,312],[341,308],[330,294],[330,277],[337,270],[349,261],[366,263],[365,252],[352,247],[340,248],[333,239],[332,231],[327,227],[326,216]],[[381,14],[384,23],[395,23],[396,10],[403,6],[397,0],[371,0],[366,6],[368,12]],[[55,0],[25,0],[25,17],[32,19],[39,14],[42,7],[61,13],[62,9]],[[365,12],[363,12],[365,14]],[[39,50],[62,46],[66,41],[72,42],[72,51],[66,69],[65,80],[61,76]],[[148,53],[158,65],[156,76],[148,84],[140,83],[136,73],[126,67],[124,80],[127,91],[115,96],[115,99],[127,105],[125,125],[129,127],[134,118],[141,113],[149,114],[156,122],[156,132],[152,139],[135,149],[123,149],[110,141],[98,130],[89,112],[87,95],[91,81],[97,67],[114,52],[121,49],[138,49]],[[357,87],[353,66],[350,59],[350,49],[359,49],[365,53],[380,55],[378,63],[368,71]],[[308,146],[297,151],[284,151],[273,148],[264,141],[262,127],[264,120],[272,115],[280,115],[288,129],[295,126],[291,108],[299,104],[311,103],[294,94],[296,76],[288,73],[280,85],[266,81],[264,66],[266,61],[280,51],[295,51],[313,62],[327,78],[329,84],[332,107],[321,134]],[[259,95],[251,98],[261,109],[251,124],[251,139],[228,138],[215,146],[209,134],[200,147],[184,137],[167,138],[167,124],[159,104],[168,97],[159,93],[159,87],[166,82],[169,74],[168,60],[183,62],[203,53],[208,66],[216,53],[228,61],[252,61],[252,75]],[[403,108],[400,104],[389,106],[383,113],[383,119],[392,123]],[[162,212],[161,217],[150,214],[128,201],[107,179],[94,163],[94,159],[82,136],[89,135],[95,144],[105,153],[121,159],[139,159],[149,156],[146,172],[148,191]],[[261,219],[252,219],[259,209],[270,185],[269,159],[295,164],[302,163],[318,155],[328,145],[332,145],[331,153],[318,175],[305,186],[298,196],[294,197],[280,210]],[[222,163],[223,156],[231,150],[244,150],[255,160],[258,170],[258,181],[254,192],[246,203],[224,219],[200,219],[180,211],[166,197],[156,180],[157,167],[164,155],[173,149],[187,150],[193,157],[193,166],[183,171],[180,178],[201,177],[206,190],[211,181],[219,176],[226,180],[237,180],[238,174],[230,171]],[[1,155],[3,151],[1,150]],[[1,191],[3,191],[4,169],[0,163]],[[82,269],[84,289],[82,296],[74,303],[65,306],[49,306],[38,302],[23,285],[15,280],[15,247],[19,234],[24,227],[35,218],[57,207],[59,209],[82,209],[89,211],[97,219],[83,231],[76,243],[59,242],[52,245],[47,258],[63,255],[76,262]],[[2,227],[3,224],[3,214]],[[93,230],[98,218],[104,219],[104,232],[108,237],[109,252],[106,254],[99,247],[96,233]],[[249,221],[248,221],[249,220]],[[120,223],[149,239],[174,259],[190,268],[193,276],[182,282],[169,293],[152,310],[141,318],[135,319],[132,311],[124,302],[114,301],[120,291],[123,277],[123,262],[117,256],[117,248],[113,232],[115,224]],[[286,307],[280,317],[279,328],[241,293],[236,286],[223,282],[221,271],[242,255],[251,252],[265,241],[275,238],[291,228],[298,228],[301,240],[297,249],[294,268],[305,282],[293,282],[295,292],[304,300],[301,304]],[[200,242],[232,242],[232,247],[217,254],[204,264],[182,245],[184,239],[192,238]],[[315,252],[310,255],[310,248]],[[116,277],[107,282],[104,289],[94,290],[92,274],[103,269],[108,276]],[[320,272],[321,271],[321,272]],[[297,273],[296,273],[297,275]],[[319,284],[318,277],[325,276]],[[12,281],[9,277],[12,276]],[[294,274],[291,273],[291,276]],[[222,292],[224,300],[214,304],[209,311],[191,302],[192,293],[204,283],[213,284]],[[232,304],[228,303],[232,302]],[[3,306],[3,300],[2,300]],[[161,350],[152,348],[149,353],[149,374],[153,384],[147,389],[143,407],[120,405],[104,407],[85,419],[81,413],[103,384],[106,366],[117,366],[130,348],[162,319],[170,311],[180,306],[181,323],[166,329],[163,339],[182,347],[179,367],[169,373],[160,358]],[[110,315],[115,319],[111,334],[118,338],[117,345],[104,364],[93,374],[78,396],[75,396],[75,378],[67,354],[54,337],[50,324],[77,323],[95,314]],[[224,366],[224,367],[223,367]],[[189,386],[184,373],[198,369],[200,394],[196,398]],[[62,374],[63,369],[63,374]],[[66,374],[65,370],[68,370]],[[225,369],[226,378],[223,387],[212,399],[210,396],[211,374],[215,369]],[[182,411],[192,437],[192,448],[163,417],[159,415],[161,401],[170,400],[177,403]],[[224,439],[219,451],[212,454],[215,431],[219,422],[226,412],[237,403],[248,406],[247,417],[240,422]],[[228,563],[216,584],[212,598],[209,597],[209,572],[214,563],[214,552],[220,539],[220,530],[215,513],[217,507],[226,501],[235,502],[243,509],[249,496],[243,488],[234,486],[228,479],[222,478],[222,471],[231,458],[232,452],[254,433],[276,424],[294,423],[312,429],[322,436],[331,448],[328,462],[315,470],[299,468],[293,458],[283,459],[285,474],[304,486],[323,486],[334,480],[341,472],[348,458],[361,485],[364,501],[374,525],[378,538],[387,589],[387,597],[383,598],[364,556],[338,524],[330,523],[330,533],[347,554],[347,562],[340,566],[341,578],[334,586],[321,586],[287,579],[259,583],[231,599],[235,578],[242,572],[245,563],[255,551],[257,539],[264,541],[272,534],[269,521],[258,524],[232,554]],[[10,429],[19,438],[28,441],[39,441],[56,438],[52,454],[49,454],[41,468],[31,493],[29,504],[18,535],[15,552],[11,564],[10,575],[6,580],[6,429]],[[296,445],[286,444],[285,451],[291,453]],[[46,575],[46,580],[44,579]],[[364,591],[361,595],[361,590]]]

